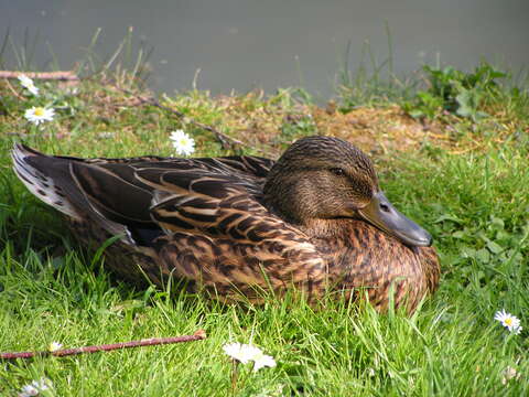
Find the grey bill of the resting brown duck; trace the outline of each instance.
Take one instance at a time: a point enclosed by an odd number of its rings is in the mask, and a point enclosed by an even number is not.
[[[371,202],[358,210],[358,213],[370,224],[407,245],[424,247],[432,245],[430,233],[397,211],[382,192],[376,193]]]

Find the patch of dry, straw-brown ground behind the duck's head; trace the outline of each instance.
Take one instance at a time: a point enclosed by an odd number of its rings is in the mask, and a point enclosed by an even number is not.
[[[342,114],[332,104],[327,108],[305,105],[284,108],[270,101],[259,101],[260,106],[256,106],[256,98],[252,99],[245,96],[216,100],[225,109],[224,125],[234,136],[248,146],[268,147],[276,153],[282,151],[279,143],[295,140],[285,140],[281,131],[285,124],[295,122],[300,117],[312,118],[314,133],[348,140],[370,153],[417,150],[425,141],[444,147],[450,141],[441,125],[425,126],[406,115],[399,106],[360,107]]]

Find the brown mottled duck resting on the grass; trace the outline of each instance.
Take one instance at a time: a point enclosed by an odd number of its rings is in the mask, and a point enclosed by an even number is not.
[[[391,205],[370,159],[342,139],[300,139],[278,161],[80,159],[22,144],[12,158],[82,242],[118,236],[106,264],[131,281],[186,279],[227,301],[294,286],[312,299],[363,294],[381,311],[393,299],[410,312],[438,287],[431,236]]]

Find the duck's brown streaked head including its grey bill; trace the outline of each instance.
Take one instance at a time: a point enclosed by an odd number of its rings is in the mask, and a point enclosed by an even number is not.
[[[386,198],[371,160],[338,138],[298,140],[270,170],[263,192],[267,204],[294,224],[364,219],[407,245],[432,243],[427,230]]]

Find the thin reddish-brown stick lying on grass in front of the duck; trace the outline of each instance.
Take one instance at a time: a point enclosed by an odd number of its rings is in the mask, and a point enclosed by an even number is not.
[[[83,346],[75,348],[63,348],[56,350],[54,352],[13,352],[13,353],[0,353],[0,360],[15,360],[15,358],[32,358],[32,357],[42,357],[42,356],[67,356],[83,353],[96,353],[96,352],[109,352],[119,348],[130,348],[139,346],[154,346],[170,343],[182,343],[182,342],[193,342],[202,341],[206,339],[206,332],[204,330],[196,331],[193,335],[183,335],[183,336],[172,336],[172,337],[152,337],[141,341],[130,341],[130,342],[120,342],[111,343],[104,345],[95,346]]]

